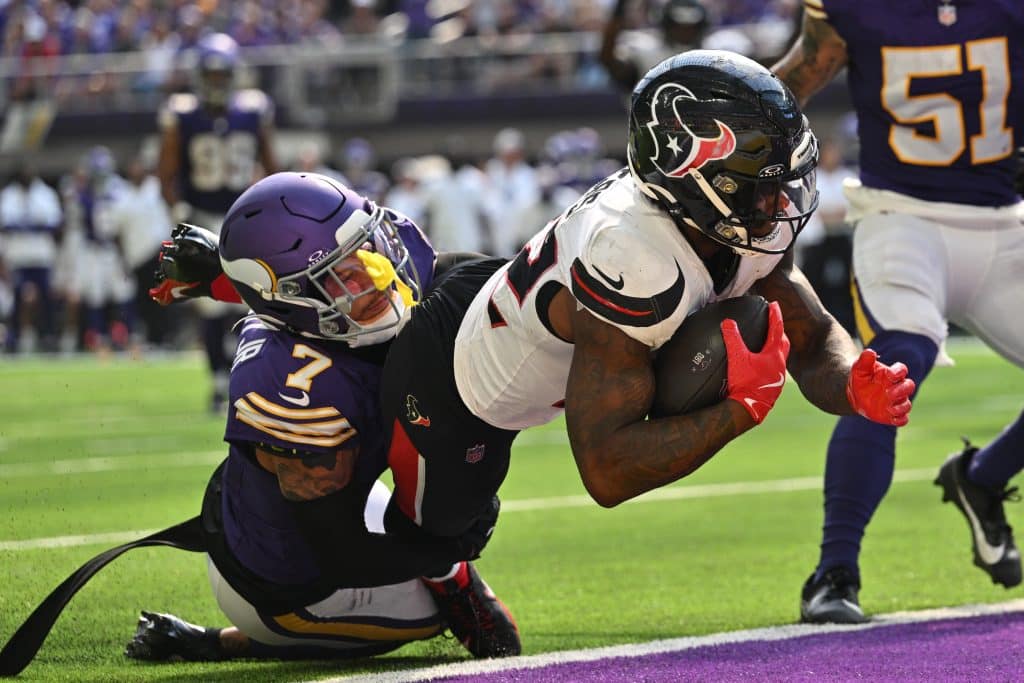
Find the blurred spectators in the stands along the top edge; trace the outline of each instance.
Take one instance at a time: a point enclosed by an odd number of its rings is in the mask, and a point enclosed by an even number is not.
[[[651,28],[665,0],[631,3],[628,25]],[[220,31],[243,48],[275,45],[338,46],[382,36],[398,43],[429,39],[446,44],[463,37],[528,40],[554,33],[599,32],[614,0],[0,0],[0,57],[39,60],[69,55],[138,53],[144,72],[133,88],[170,90],[179,56],[205,33]],[[713,0],[713,25],[792,26],[797,0]],[[774,35],[779,32],[775,31]],[[782,35],[787,35],[783,30]],[[771,46],[774,49],[775,46]],[[38,61],[37,61],[38,63]],[[15,70],[11,70],[15,71]],[[102,75],[92,83],[101,89]],[[59,84],[23,77],[10,86],[14,100]]]

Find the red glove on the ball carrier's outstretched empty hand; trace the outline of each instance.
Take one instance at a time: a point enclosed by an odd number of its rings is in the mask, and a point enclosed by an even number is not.
[[[910,394],[916,386],[906,376],[906,366],[879,362],[879,354],[869,348],[850,369],[846,398],[858,415],[884,425],[902,427],[910,418]]]

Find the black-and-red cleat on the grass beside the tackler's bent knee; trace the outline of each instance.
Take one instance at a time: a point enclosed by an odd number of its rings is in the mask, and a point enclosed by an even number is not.
[[[472,562],[466,562],[466,568],[469,584],[464,588],[455,580],[441,585],[427,583],[452,635],[477,658],[519,654],[522,645],[512,613],[480,579]]]

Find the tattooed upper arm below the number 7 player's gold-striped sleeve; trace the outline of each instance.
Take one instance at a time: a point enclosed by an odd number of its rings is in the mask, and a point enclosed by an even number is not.
[[[356,449],[347,449],[334,455],[283,458],[256,449],[259,464],[276,475],[281,495],[296,502],[312,501],[344,488],[352,478],[357,455]]]

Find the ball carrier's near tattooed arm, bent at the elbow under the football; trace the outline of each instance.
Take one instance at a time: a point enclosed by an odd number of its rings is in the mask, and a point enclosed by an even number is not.
[[[587,310],[572,314],[565,422],[584,485],[604,507],[680,479],[755,426],[738,402],[646,420],[650,349]]]

